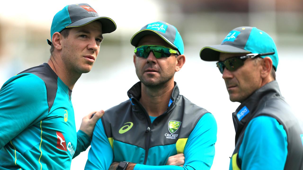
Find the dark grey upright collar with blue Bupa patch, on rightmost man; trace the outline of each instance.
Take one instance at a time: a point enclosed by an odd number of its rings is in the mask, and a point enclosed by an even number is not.
[[[278,82],[276,80],[265,84],[260,89],[252,93],[251,96],[242,102],[237,110],[232,113],[232,119],[236,131],[236,142],[242,129],[247,126],[251,118],[255,115],[258,105],[265,103],[266,100],[273,96],[282,97]]]

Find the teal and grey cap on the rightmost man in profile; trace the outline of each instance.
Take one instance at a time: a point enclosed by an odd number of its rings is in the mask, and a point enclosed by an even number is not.
[[[205,61],[218,61],[220,53],[269,53],[272,55],[260,56],[270,57],[275,70],[278,67],[278,52],[274,40],[264,31],[256,27],[238,27],[230,31],[222,41],[221,45],[203,47],[200,57]]]

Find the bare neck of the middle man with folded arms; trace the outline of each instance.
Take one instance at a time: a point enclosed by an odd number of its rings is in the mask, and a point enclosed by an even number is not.
[[[145,86],[141,83],[141,98],[139,101],[149,116],[160,116],[167,110],[174,86],[173,79],[159,86]]]

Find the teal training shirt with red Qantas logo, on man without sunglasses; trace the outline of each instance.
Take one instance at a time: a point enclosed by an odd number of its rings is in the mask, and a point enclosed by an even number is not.
[[[90,142],[79,131],[77,147],[71,94],[46,63],[4,83],[0,90],[0,169],[70,169],[73,156]]]

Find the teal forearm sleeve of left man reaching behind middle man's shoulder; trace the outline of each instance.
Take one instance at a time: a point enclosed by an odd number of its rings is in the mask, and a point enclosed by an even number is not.
[[[85,151],[88,146],[91,144],[91,139],[89,136],[83,132],[82,130],[78,130],[77,132],[77,148],[73,159],[78,156],[81,152]]]

